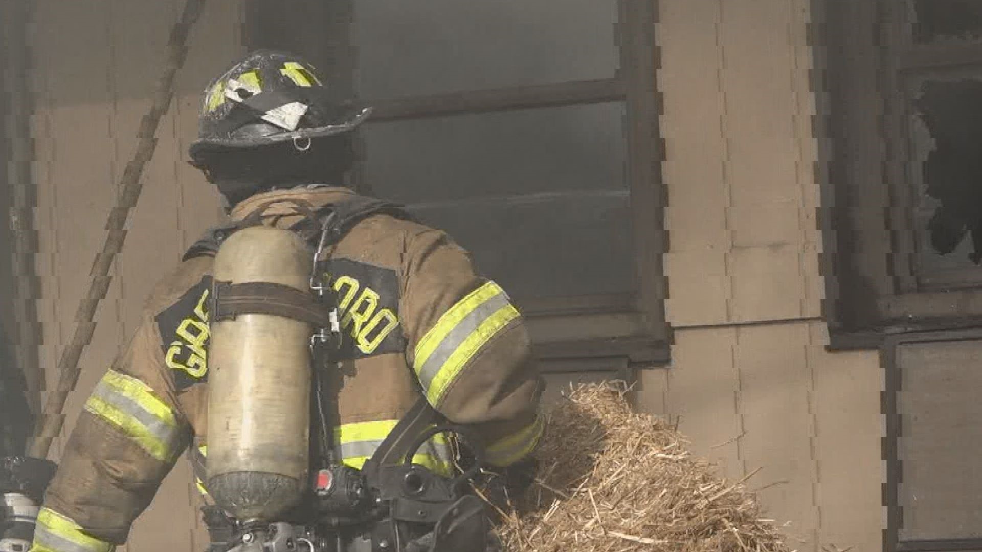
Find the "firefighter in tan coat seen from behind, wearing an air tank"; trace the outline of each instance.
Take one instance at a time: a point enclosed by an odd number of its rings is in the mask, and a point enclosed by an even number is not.
[[[213,550],[486,549],[468,500],[495,493],[471,483],[501,488],[540,438],[523,316],[445,232],[342,186],[368,111],[334,95],[280,53],[205,89],[189,156],[227,220],[89,396],[33,552],[112,550],[189,447]]]

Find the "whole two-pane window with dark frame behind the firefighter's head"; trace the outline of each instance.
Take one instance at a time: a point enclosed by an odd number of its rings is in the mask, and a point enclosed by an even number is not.
[[[469,250],[540,357],[668,359],[650,1],[266,4],[250,48],[373,108],[353,186]]]

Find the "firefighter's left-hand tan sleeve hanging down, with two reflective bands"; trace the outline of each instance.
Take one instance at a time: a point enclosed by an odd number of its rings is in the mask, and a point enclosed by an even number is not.
[[[69,436],[37,518],[31,552],[110,552],[126,540],[190,439],[144,318]]]

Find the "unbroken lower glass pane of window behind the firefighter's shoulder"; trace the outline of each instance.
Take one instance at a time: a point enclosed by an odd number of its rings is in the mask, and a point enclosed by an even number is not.
[[[371,193],[450,232],[518,299],[633,289],[621,103],[374,123]]]

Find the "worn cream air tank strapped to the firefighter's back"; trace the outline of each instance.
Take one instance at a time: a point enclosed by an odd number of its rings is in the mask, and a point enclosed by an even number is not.
[[[215,255],[206,475],[216,505],[239,522],[274,521],[307,480],[315,329],[276,304],[284,292],[314,301],[311,261],[300,240],[265,225],[237,231]],[[265,294],[269,310],[244,306],[261,303],[263,288],[279,292]]]

